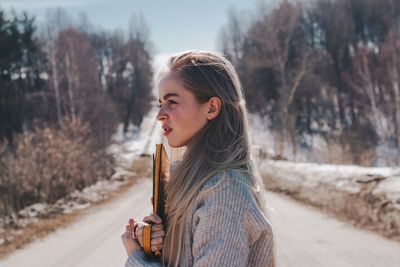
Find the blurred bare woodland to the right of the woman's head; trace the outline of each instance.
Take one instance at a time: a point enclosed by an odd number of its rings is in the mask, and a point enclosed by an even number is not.
[[[398,165],[399,26],[398,0],[281,1],[230,9],[219,45],[276,134],[276,156],[320,137],[342,163]]]

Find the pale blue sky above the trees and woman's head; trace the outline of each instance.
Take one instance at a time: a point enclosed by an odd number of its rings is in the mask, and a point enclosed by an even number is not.
[[[62,7],[77,17],[85,12],[94,25],[106,30],[128,29],[133,14],[143,14],[154,54],[166,57],[188,50],[218,51],[217,36],[227,23],[227,10],[255,9],[260,0],[0,0],[6,11],[27,11],[38,23],[49,8]],[[268,1],[268,0],[267,0]]]

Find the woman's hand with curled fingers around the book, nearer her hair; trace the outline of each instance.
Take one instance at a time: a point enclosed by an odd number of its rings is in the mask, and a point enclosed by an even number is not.
[[[143,222],[138,223],[136,227],[135,236],[139,241],[140,246],[143,247],[143,228],[146,223],[153,223],[153,226],[151,227],[151,251],[156,252],[162,250],[165,231],[160,217],[158,217],[155,213],[144,217]]]

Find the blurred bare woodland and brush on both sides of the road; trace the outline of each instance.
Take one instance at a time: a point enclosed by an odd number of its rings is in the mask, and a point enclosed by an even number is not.
[[[272,156],[320,138],[340,148],[336,163],[390,166],[400,164],[399,26],[398,0],[259,2],[228,11],[218,44],[276,136]],[[0,8],[0,215],[110,176],[111,136],[140,127],[153,101],[148,29],[134,16],[127,32],[96,30],[62,9],[38,27]]]

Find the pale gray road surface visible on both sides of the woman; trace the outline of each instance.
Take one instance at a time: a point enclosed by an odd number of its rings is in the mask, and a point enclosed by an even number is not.
[[[120,235],[129,216],[150,212],[151,181],[0,261],[1,267],[115,267],[126,255]],[[268,193],[278,266],[400,266],[400,244],[356,229],[289,198]]]

